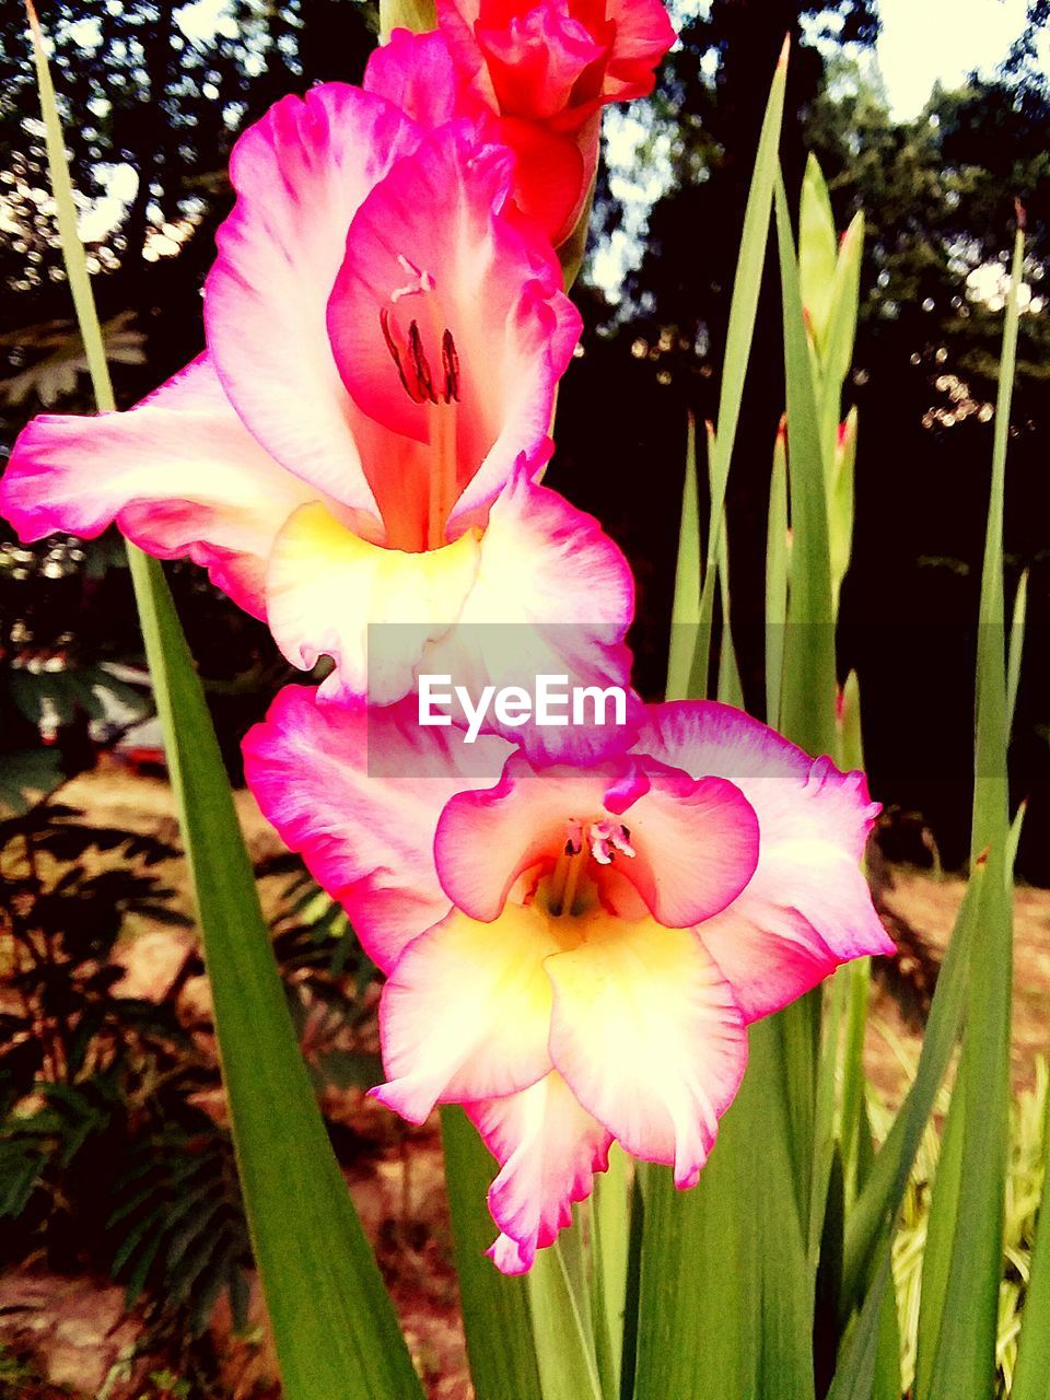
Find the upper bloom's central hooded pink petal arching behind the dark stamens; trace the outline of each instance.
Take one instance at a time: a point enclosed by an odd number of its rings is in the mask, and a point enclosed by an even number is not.
[[[470,122],[423,140],[356,213],[328,305],[354,402],[428,444],[442,524],[487,505],[518,456],[545,444],[580,336],[550,246],[507,209],[511,171],[510,151]],[[367,469],[386,517],[403,472],[379,459]]]

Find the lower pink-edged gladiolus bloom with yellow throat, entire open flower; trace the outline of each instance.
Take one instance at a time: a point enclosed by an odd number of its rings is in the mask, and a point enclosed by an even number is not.
[[[693,1184],[748,1023],[892,949],[860,869],[878,806],[714,703],[651,707],[629,755],[589,766],[536,770],[490,736],[494,787],[430,734],[286,690],[246,771],[386,973],[377,1098],[417,1123],[466,1106],[500,1165],[491,1254],[519,1273],[613,1140]],[[398,777],[370,778],[370,745]]]

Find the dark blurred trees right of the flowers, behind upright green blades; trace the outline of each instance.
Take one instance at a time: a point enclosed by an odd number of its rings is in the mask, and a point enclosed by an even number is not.
[[[868,224],[865,304],[850,398],[860,405],[858,539],[844,595],[843,666],[862,672],[878,795],[932,823],[945,858],[965,857],[973,634],[991,405],[1015,197],[1029,234],[1011,440],[1011,585],[1032,570],[1030,638],[1015,736],[1018,795],[1035,797],[1022,846],[1029,878],[1050,879],[1050,687],[1040,665],[1050,613],[1046,442],[1050,433],[1050,126],[1033,62],[1050,4],[1035,0],[1028,66],[958,92],[937,91],[897,122],[871,62],[875,6],[713,0],[683,29],[640,140],[662,193],[623,300],[588,291],[585,356],[561,399],[554,483],[612,521],[638,573],[641,683],[662,685],[673,585],[685,410],[717,412],[746,186],[784,32],[794,45],[783,147],[790,197],[806,148],[833,186],[839,227]],[[798,45],[802,35],[805,42]],[[627,224],[613,178],[599,190],[606,232]],[[637,227],[637,216],[634,216]],[[608,284],[608,279],[606,279]],[[601,414],[594,406],[602,405]],[[760,693],[757,629],[770,448],[783,409],[780,308],[770,267],[729,479],[734,613],[745,685]],[[617,465],[626,470],[617,473]],[[644,473],[644,490],[638,476]],[[654,547],[655,542],[655,547]],[[904,624],[902,634],[900,627]],[[909,640],[910,638],[910,640]],[[1044,650],[1043,650],[1044,654]]]

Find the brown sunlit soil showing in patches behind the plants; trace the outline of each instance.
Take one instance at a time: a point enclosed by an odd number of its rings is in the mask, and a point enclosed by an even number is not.
[[[161,777],[146,777],[113,762],[70,783],[62,801],[81,808],[99,825],[148,832],[178,844],[171,790]],[[248,792],[237,795],[238,813],[256,862],[280,851],[280,843]],[[165,872],[178,885],[190,913],[181,862]],[[965,883],[956,876],[895,867],[885,872],[882,897],[888,913],[916,937],[935,963],[951,937]],[[265,881],[267,914],[280,911],[283,885]],[[127,988],[164,995],[172,969],[185,960],[178,931],[137,927],[120,956]],[[167,980],[167,983],[165,983]],[[182,995],[197,998],[207,1015],[206,987],[188,984]],[[910,1008],[885,984],[875,993],[865,1050],[867,1068],[890,1103],[907,1082],[907,1063],[921,1043]],[[1032,1082],[1036,1057],[1050,1051],[1050,892],[1019,889],[1016,896],[1016,974],[1014,1077]],[[217,1116],[221,1102],[213,1105]],[[468,1400],[462,1326],[451,1266],[448,1212],[444,1200],[437,1124],[391,1131],[384,1109],[358,1091],[333,1093],[329,1117],[365,1144],[344,1163],[344,1175],[364,1228],[372,1240],[400,1315],[409,1345],[430,1400]],[[223,1387],[232,1400],[276,1400],[279,1386],[258,1288],[255,1326],[246,1338],[232,1336],[220,1306],[213,1323],[223,1358]],[[56,1277],[29,1264],[0,1278],[0,1400],[168,1400],[158,1386],[155,1358],[137,1357],[141,1334],[137,1315],[125,1315],[122,1291],[105,1280]],[[154,1379],[150,1379],[150,1376]],[[106,1385],[109,1389],[106,1390]]]

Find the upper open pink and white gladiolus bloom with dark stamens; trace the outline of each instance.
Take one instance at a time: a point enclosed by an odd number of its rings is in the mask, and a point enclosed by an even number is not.
[[[207,353],[129,413],[35,419],[0,512],[207,566],[295,665],[335,658],[326,693],[364,693],[370,623],[413,624],[381,703],[455,622],[580,624],[584,671],[626,675],[627,566],[536,484],[580,318],[511,171],[344,84],[277,102],[234,150]]]

